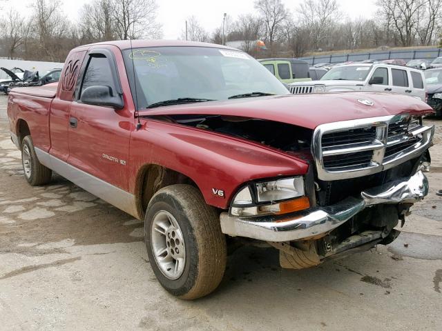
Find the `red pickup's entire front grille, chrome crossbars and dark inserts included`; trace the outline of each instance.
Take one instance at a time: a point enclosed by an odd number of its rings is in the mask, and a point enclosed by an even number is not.
[[[314,132],[318,177],[337,180],[366,176],[418,157],[428,148],[434,127],[410,115],[329,123]]]

